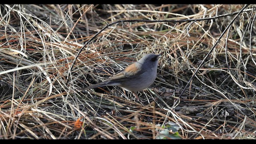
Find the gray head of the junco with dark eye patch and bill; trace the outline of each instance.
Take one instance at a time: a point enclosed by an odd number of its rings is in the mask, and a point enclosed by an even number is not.
[[[142,67],[157,67],[158,65],[158,59],[160,58],[160,54],[156,55],[156,54],[146,54],[145,56],[143,56],[138,63],[142,64]]]

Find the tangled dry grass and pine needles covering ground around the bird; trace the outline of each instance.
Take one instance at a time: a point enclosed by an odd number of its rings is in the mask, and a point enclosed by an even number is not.
[[[256,138],[254,6],[1,5],[0,138]],[[184,21],[120,22],[91,39],[118,20]],[[151,52],[162,57],[142,102],[77,91]]]

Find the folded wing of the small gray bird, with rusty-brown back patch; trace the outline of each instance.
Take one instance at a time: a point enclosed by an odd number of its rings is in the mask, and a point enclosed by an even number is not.
[[[142,72],[141,69],[138,69],[136,64],[133,63],[130,66],[127,66],[124,70],[121,70],[121,71],[113,74],[112,76],[110,76],[108,78],[108,80],[123,81],[123,80],[127,80],[127,79],[130,79],[130,78],[134,78],[134,77],[136,77],[136,76],[138,76],[142,73],[144,73],[144,72]]]

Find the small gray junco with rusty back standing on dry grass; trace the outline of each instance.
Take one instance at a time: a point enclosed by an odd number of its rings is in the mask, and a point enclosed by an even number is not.
[[[156,79],[158,58],[161,55],[147,54],[138,62],[127,66],[124,70],[116,72],[106,81],[81,88],[79,91],[98,88],[102,86],[120,86],[132,92],[139,100],[135,92],[148,88]]]

